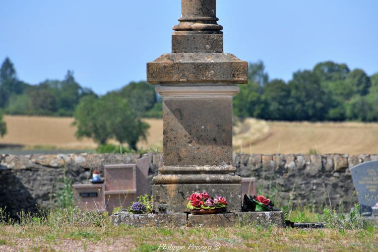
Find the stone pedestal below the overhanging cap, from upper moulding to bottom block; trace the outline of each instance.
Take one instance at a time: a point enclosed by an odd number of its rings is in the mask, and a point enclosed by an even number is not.
[[[153,178],[154,201],[187,212],[191,194],[207,191],[241,210],[241,177],[232,167],[232,97],[237,86],[160,86],[164,166]],[[158,207],[157,207],[158,208]]]

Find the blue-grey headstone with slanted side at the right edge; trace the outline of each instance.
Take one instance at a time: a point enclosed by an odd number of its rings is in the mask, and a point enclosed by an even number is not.
[[[378,215],[378,161],[350,168],[363,215]]]

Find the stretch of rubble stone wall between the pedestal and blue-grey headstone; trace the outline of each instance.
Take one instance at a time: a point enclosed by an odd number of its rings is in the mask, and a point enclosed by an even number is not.
[[[357,201],[350,167],[378,160],[378,155],[247,155],[236,154],[233,165],[243,177],[257,179],[257,192],[280,205],[349,208]]]

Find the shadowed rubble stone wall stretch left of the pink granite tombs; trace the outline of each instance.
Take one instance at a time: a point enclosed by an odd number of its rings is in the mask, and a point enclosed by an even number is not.
[[[91,170],[105,164],[135,163],[138,154],[0,155],[0,207],[16,217],[17,211],[49,208],[67,176],[74,183],[88,183]]]

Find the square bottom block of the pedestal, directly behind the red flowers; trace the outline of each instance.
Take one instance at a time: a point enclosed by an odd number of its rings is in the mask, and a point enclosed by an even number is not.
[[[159,205],[167,213],[189,212],[186,208],[193,193],[206,191],[211,197],[224,197],[228,202],[227,212],[241,211],[241,184],[157,184],[152,186],[154,210],[161,212]]]

